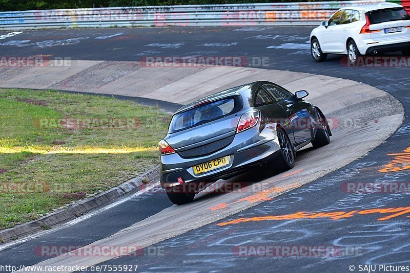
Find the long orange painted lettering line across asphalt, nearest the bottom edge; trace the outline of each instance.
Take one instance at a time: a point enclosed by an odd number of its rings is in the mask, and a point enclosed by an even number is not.
[[[350,212],[297,212],[293,214],[277,215],[277,216],[260,216],[260,217],[249,217],[249,218],[239,218],[228,222],[218,223],[219,226],[237,224],[244,222],[255,222],[255,221],[272,221],[272,220],[290,220],[290,219],[315,219],[315,218],[327,218],[331,220],[350,218],[353,216],[363,215],[363,214],[389,214],[387,216],[377,219],[378,221],[385,221],[393,219],[404,214],[410,213],[410,207],[399,207],[399,208],[386,208],[386,209],[370,209],[370,210],[355,210]],[[410,218],[410,215],[407,217]]]

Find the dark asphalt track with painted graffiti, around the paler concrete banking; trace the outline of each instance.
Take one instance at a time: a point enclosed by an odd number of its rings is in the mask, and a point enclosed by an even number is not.
[[[391,94],[404,107],[401,127],[380,146],[347,166],[176,237],[167,237],[169,230],[163,230],[163,239],[145,248],[144,255],[111,258],[99,265],[137,264],[140,272],[349,272],[359,271],[365,264],[410,266],[410,190],[401,193],[344,190],[346,183],[396,183],[408,187],[410,168],[380,170],[397,156],[404,156],[400,166],[410,166],[410,68],[348,67],[343,58],[336,55],[315,63],[310,56],[311,30],[311,27],[33,30],[0,41],[3,56],[49,55],[112,61],[141,61],[150,56],[239,56],[248,61],[247,66],[256,68],[362,82]],[[401,54],[388,56],[401,57]],[[5,77],[3,74],[2,79]],[[275,81],[274,78],[263,80]],[[355,115],[354,108],[351,115]],[[308,156],[305,153],[309,151],[302,153]],[[326,160],[331,163],[333,158],[329,156]],[[270,178],[268,172],[252,169],[237,179],[255,185]],[[153,181],[150,191],[124,196],[121,203],[96,210],[88,218],[10,244],[0,244],[0,260],[15,266],[32,265],[53,258],[34,255],[33,249],[38,245],[82,246],[107,238],[174,207],[166,194],[160,192],[157,182]],[[214,196],[208,194],[203,198]],[[225,205],[221,203],[213,207],[213,211],[223,210]],[[189,206],[192,211],[195,201],[181,206],[177,212],[183,214],[183,207]],[[196,221],[195,217],[191,221]],[[138,237],[137,229],[135,233]],[[281,251],[288,246],[299,246],[299,251],[300,246],[336,247],[336,255],[257,255],[252,248],[262,247],[260,249],[267,251],[272,246]],[[155,253],[150,255],[150,249]]]

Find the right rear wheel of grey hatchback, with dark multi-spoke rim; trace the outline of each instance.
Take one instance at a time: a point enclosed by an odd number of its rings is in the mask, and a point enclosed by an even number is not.
[[[295,166],[295,151],[293,150],[292,143],[289,140],[288,135],[286,135],[286,133],[279,128],[276,132],[280,150],[278,156],[275,158],[273,167],[277,172],[284,172]]]

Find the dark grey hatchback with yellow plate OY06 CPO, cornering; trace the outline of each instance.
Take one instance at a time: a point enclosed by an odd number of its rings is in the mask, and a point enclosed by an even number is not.
[[[277,172],[295,165],[295,153],[332,135],[322,111],[285,88],[258,81],[177,110],[159,142],[160,182],[174,204],[191,202],[216,180],[268,163]]]

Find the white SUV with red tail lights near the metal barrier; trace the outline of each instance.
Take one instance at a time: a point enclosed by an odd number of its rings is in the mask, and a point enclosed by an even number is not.
[[[315,61],[327,54],[347,54],[356,63],[360,55],[401,51],[410,56],[410,15],[394,3],[345,7],[311,33]]]

